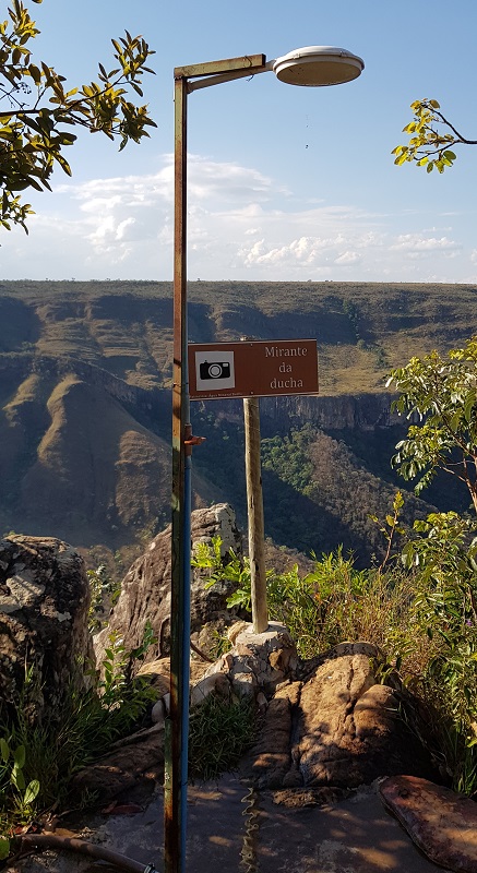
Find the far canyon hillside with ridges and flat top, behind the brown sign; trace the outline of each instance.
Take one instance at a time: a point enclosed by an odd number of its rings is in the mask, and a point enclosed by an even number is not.
[[[320,397],[262,400],[266,533],[317,552],[379,551],[369,514],[389,510],[402,422],[391,367],[477,328],[470,286],[192,283],[191,342],[317,338]],[[132,554],[167,523],[171,286],[0,286],[0,526]],[[240,402],[193,405],[196,505],[227,500],[245,522]],[[403,485],[403,483],[401,483]],[[465,509],[462,492],[426,499]],[[406,514],[427,511],[409,498]]]

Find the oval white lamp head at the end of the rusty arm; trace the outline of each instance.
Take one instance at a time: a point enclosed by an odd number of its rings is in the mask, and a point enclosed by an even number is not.
[[[277,58],[271,63],[273,72],[287,85],[339,85],[357,79],[365,61],[345,48],[306,46]]]

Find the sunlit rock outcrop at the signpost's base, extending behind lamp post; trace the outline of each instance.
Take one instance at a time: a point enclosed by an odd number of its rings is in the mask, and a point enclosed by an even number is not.
[[[200,706],[210,694],[254,697],[263,719],[241,776],[258,789],[274,789],[276,802],[300,806],[346,797],[383,776],[433,775],[422,746],[398,716],[398,693],[375,681],[374,646],[342,643],[301,682],[295,679],[296,651],[286,629],[272,623],[263,634],[253,634],[251,625],[237,631],[232,649],[203,675],[203,665],[191,670],[190,704]],[[162,693],[153,727],[118,743],[118,752],[74,780],[76,788],[100,787],[103,800],[138,785],[141,773],[146,780],[152,774],[157,778],[163,767],[168,659],[141,672],[151,672]]]

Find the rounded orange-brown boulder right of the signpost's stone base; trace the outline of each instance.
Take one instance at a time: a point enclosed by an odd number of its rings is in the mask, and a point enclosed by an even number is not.
[[[377,660],[375,646],[342,643],[301,686],[279,689],[251,755],[260,787],[354,789],[379,776],[431,774],[400,717],[398,692],[377,683]]]

